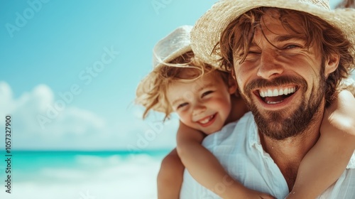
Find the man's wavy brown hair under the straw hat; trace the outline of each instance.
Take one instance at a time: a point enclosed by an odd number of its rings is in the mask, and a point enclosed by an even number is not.
[[[218,53],[222,56],[220,60],[222,68],[234,72],[234,55],[236,55],[236,52],[244,52],[244,56],[241,57],[240,61],[240,63],[243,63],[247,55],[246,52],[248,52],[253,41],[255,31],[260,27],[261,17],[266,14],[266,11],[271,10],[278,11],[280,14],[279,20],[287,31],[295,34],[295,36],[305,38],[306,48],[315,45],[320,50],[322,65],[324,65],[325,60],[330,55],[337,54],[340,56],[338,68],[327,77],[327,87],[324,88],[326,90],[326,104],[329,105],[335,98],[339,82],[343,78],[349,77],[349,73],[354,67],[354,57],[351,54],[354,46],[351,45],[339,28],[335,28],[317,16],[290,9],[268,7],[252,9],[226,26],[221,33],[219,43],[214,46],[212,53]],[[295,18],[300,21],[300,23],[297,23],[297,27],[291,25],[296,23]]]

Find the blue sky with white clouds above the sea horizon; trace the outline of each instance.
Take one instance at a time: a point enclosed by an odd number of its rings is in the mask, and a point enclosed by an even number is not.
[[[13,149],[172,148],[176,117],[142,121],[136,86],[153,45],[213,3],[0,1],[0,127],[11,114]]]

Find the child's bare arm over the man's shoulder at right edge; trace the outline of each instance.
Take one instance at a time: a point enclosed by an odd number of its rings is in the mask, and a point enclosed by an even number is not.
[[[354,104],[343,90],[324,110],[320,139],[303,158],[288,198],[316,198],[344,172],[355,149]]]

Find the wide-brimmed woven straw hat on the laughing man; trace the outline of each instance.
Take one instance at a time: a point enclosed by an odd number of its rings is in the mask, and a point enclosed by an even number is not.
[[[261,6],[292,9],[318,16],[342,30],[353,46],[355,44],[355,10],[331,11],[327,0],[221,0],[195,23],[191,31],[191,46],[195,55],[210,65],[218,64],[217,60],[221,57],[211,55],[211,52],[219,42],[222,31],[241,14]]]

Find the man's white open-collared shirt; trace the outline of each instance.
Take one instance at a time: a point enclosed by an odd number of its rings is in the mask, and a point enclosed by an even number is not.
[[[221,131],[207,136],[202,145],[222,163],[229,175],[246,187],[269,193],[276,198],[288,195],[288,184],[271,156],[263,151],[258,129],[251,112],[239,122],[227,124]],[[223,191],[223,182],[214,190]],[[219,198],[197,183],[185,170],[180,199]],[[318,198],[355,198],[355,154],[336,183]]]

